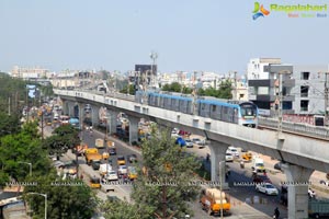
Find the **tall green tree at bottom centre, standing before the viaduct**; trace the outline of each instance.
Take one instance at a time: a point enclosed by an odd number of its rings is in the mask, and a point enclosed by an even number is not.
[[[143,170],[134,183],[132,197],[140,215],[157,218],[182,217],[193,215],[186,201],[198,194],[198,186],[191,182],[201,163],[184,149],[168,138],[169,131],[159,132],[151,127],[151,137],[141,145]]]

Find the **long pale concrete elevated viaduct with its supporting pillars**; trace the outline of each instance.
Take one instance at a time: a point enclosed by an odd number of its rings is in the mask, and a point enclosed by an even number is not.
[[[137,140],[138,120],[144,117],[164,127],[179,127],[193,134],[206,136],[212,151],[212,181],[219,181],[219,175],[225,176],[225,165],[219,170],[219,162],[225,160],[228,146],[243,147],[262,154],[284,161],[287,182],[295,185],[288,186],[288,218],[308,218],[308,185],[307,182],[315,170],[329,172],[329,143],[326,140],[300,137],[292,134],[277,135],[271,130],[259,130],[235,124],[224,123],[200,116],[171,112],[145,104],[124,100],[123,96],[110,97],[81,91],[55,90],[65,104],[64,111],[72,113],[72,106],[79,105],[82,118],[86,103],[94,108],[106,106],[110,111],[110,130],[114,132],[116,125],[115,115],[123,112],[129,117],[129,142]],[[127,99],[127,96],[125,97]],[[71,106],[69,106],[71,102]],[[97,111],[95,111],[97,112]],[[94,113],[93,113],[94,114]],[[93,116],[94,117],[94,116]],[[95,116],[97,117],[97,116]],[[97,120],[94,119],[97,123]],[[112,128],[111,128],[112,127]],[[222,171],[223,174],[219,174]],[[299,183],[299,184],[297,184]],[[306,184],[305,184],[306,183]]]

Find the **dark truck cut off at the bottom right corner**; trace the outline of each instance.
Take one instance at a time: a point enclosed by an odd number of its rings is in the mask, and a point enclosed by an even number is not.
[[[309,199],[308,216],[310,218],[329,218],[329,199]]]

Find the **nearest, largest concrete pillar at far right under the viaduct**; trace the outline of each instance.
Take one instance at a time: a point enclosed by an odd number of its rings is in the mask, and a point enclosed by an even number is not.
[[[288,218],[308,218],[308,182],[314,170],[293,164],[282,166],[287,178],[284,183],[288,187]]]

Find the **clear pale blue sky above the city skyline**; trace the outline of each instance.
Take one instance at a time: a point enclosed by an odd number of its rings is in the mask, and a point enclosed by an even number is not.
[[[268,10],[274,3],[328,3],[329,10],[329,0],[259,2]],[[294,19],[270,11],[252,20],[253,9],[251,0],[0,0],[0,70],[126,72],[151,64],[151,51],[160,72],[243,74],[258,57],[329,64],[329,11]]]

